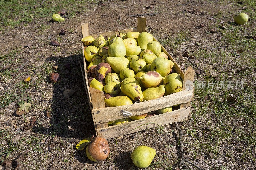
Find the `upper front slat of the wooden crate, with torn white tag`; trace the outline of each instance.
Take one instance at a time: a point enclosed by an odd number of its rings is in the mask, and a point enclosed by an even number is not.
[[[121,113],[122,109],[131,112],[132,116],[135,116],[155,111],[161,108],[173,106],[176,104],[185,103],[186,101],[189,102],[192,98],[192,95],[192,89],[190,91],[185,89],[183,91],[170,94],[168,96],[164,96],[154,100],[143,101],[140,103],[135,103],[132,105],[93,109],[95,122],[96,124],[98,124],[102,122],[108,122],[125,118],[125,116]]]

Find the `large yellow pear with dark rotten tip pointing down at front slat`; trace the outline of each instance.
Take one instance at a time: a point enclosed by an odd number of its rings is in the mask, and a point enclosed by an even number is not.
[[[132,100],[139,100],[140,102],[143,101],[143,94],[141,91],[140,83],[135,78],[125,78],[121,83],[121,90]]]

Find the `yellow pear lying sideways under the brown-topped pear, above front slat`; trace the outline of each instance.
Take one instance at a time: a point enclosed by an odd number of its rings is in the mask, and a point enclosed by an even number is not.
[[[144,100],[146,101],[163,97],[164,93],[164,85],[160,85],[159,87],[151,87],[142,92]]]

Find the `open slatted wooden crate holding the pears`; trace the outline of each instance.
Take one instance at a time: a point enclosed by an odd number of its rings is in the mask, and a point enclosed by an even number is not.
[[[82,25],[82,33],[83,38],[91,35],[94,38],[98,37],[98,35],[106,35],[108,37],[114,35],[116,31],[109,32],[101,32],[101,33],[91,33],[89,34],[88,23],[81,23]],[[127,33],[130,31],[138,31],[143,32],[146,31],[146,18],[138,17],[138,26],[137,28],[119,30],[122,33]],[[154,38],[154,41],[157,41]],[[84,56],[84,44],[82,43],[82,51]],[[164,96],[155,100],[143,101],[140,103],[135,103],[133,105],[125,105],[125,106],[117,106],[117,107],[105,107],[104,102],[104,94],[102,91],[91,88],[88,85],[88,78],[86,74],[87,64],[84,58],[84,85],[87,93],[87,98],[89,101],[89,106],[92,113],[92,118],[95,125],[95,131],[97,136],[104,137],[106,139],[111,139],[114,137],[138,132],[141,130],[154,128],[158,126],[168,125],[174,122],[185,121],[188,119],[191,107],[190,101],[193,99],[193,80],[194,80],[194,70],[189,67],[184,73],[181,71],[178,64],[174,61],[171,55],[164,49],[162,46],[162,51],[168,55],[169,59],[174,62],[174,70],[176,73],[180,73],[180,76],[183,78],[183,88],[182,91],[170,94],[168,96]],[[187,81],[188,80],[188,81]],[[186,87],[190,87],[187,88]],[[121,118],[125,118],[121,113],[121,110],[127,110],[132,113],[132,116],[140,115],[143,113],[148,113],[151,111],[155,111],[161,108],[173,106],[176,104],[180,104],[180,109],[174,110],[171,112],[167,112],[160,115],[155,115],[151,117],[147,117],[140,120],[135,120],[131,122],[122,123],[119,125],[109,126],[108,121],[117,120]]]

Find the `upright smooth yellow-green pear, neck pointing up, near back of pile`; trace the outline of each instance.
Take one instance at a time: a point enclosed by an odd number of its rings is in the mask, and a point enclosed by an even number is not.
[[[124,57],[126,54],[126,47],[123,39],[116,37],[116,40],[108,47],[108,55],[111,57]]]

